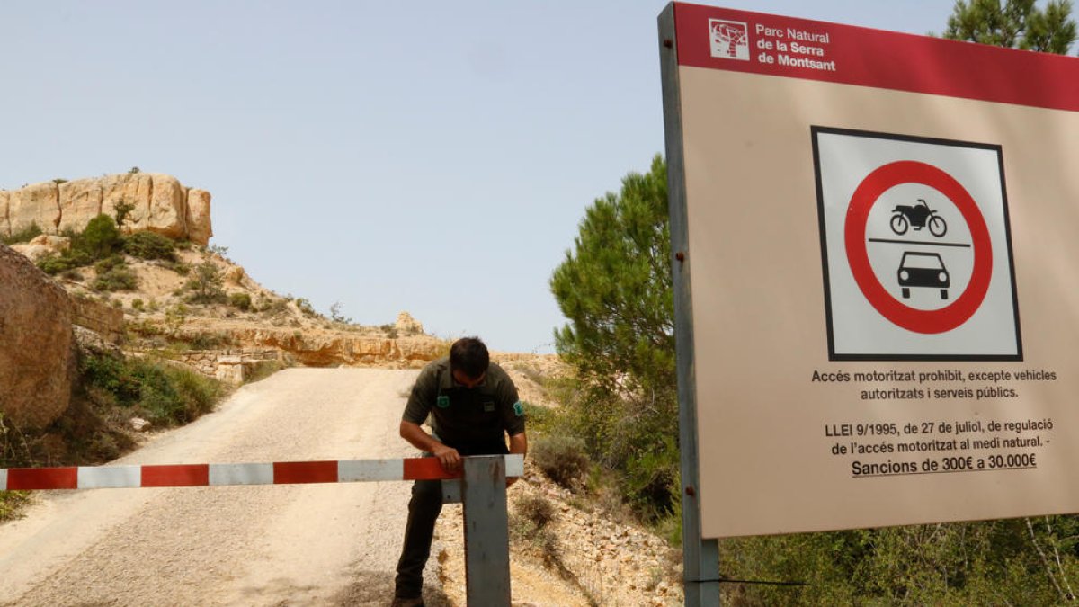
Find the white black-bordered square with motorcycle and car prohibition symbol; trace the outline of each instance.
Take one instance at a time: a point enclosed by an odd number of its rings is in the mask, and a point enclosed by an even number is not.
[[[830,360],[1023,360],[1000,146],[811,131]]]

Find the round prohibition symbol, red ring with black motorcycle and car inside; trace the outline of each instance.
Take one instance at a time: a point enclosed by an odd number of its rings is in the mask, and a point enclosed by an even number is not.
[[[866,237],[870,211],[880,200],[885,191],[902,184],[920,184],[944,194],[958,208],[970,230],[974,257],[970,281],[959,297],[955,298],[955,301],[938,310],[921,310],[896,299],[885,285],[882,284],[870,264],[866,244],[872,240],[882,240]],[[897,213],[892,215],[890,226],[892,231],[905,234],[912,225],[915,228],[921,227],[918,226],[919,222],[921,226],[928,226],[930,234],[934,237],[943,237],[947,231],[946,221],[940,215],[929,210],[928,204],[925,204],[924,201],[923,205],[914,205],[905,210],[897,206]],[[865,295],[866,300],[883,316],[907,331],[937,334],[956,328],[967,322],[978,311],[985,299],[985,294],[988,291],[989,281],[993,276],[993,247],[985,218],[978,208],[978,203],[974,202],[974,199],[962,185],[944,171],[931,164],[917,161],[897,161],[885,164],[870,173],[859,184],[850,199],[844,237],[850,271],[858,283],[858,287]],[[911,241],[893,242],[903,243]],[[916,244],[927,245],[932,243],[916,242]],[[947,245],[945,243],[941,246]],[[933,267],[931,257],[935,257],[937,267]],[[911,259],[910,265],[907,264],[907,259]],[[927,259],[928,262],[926,262]],[[900,284],[902,285],[904,280],[910,280],[910,276],[917,275],[916,272],[918,270],[923,270],[923,273],[929,273],[930,275],[939,274],[941,276],[941,286],[945,287],[941,289],[942,298],[947,298],[946,286],[950,284],[950,281],[947,280],[947,271],[940,260],[939,255],[915,251],[904,253],[903,264],[899,270]],[[924,270],[929,270],[929,272],[924,272]],[[909,276],[907,279],[904,279],[904,272]],[[910,285],[904,286],[904,295],[909,294],[909,289]]]

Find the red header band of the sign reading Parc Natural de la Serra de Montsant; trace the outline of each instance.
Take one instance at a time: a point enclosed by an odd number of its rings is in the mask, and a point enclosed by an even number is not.
[[[679,65],[1079,111],[1079,58],[674,4]]]

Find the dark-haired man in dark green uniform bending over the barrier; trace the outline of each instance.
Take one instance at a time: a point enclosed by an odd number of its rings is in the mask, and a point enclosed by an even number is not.
[[[517,388],[506,372],[490,361],[487,346],[478,337],[465,337],[453,342],[449,356],[428,363],[412,387],[401,416],[400,435],[438,458],[448,472],[461,469],[463,456],[524,455],[528,450],[524,409],[517,399]],[[428,415],[431,434],[420,427]],[[514,481],[507,480],[506,486]],[[394,606],[423,605],[423,568],[441,511],[441,481],[416,481],[397,563]]]

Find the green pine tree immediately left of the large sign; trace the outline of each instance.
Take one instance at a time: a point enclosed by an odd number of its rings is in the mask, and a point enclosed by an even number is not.
[[[650,516],[672,507],[679,461],[670,264],[667,163],[657,156],[586,211],[550,281],[570,321],[555,345],[583,383],[575,427]]]

